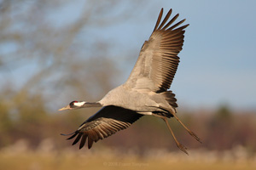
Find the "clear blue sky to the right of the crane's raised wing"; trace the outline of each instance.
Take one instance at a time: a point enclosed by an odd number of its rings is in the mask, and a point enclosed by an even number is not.
[[[195,1],[173,83],[188,105],[256,107],[255,1]],[[188,14],[189,13],[189,14]]]

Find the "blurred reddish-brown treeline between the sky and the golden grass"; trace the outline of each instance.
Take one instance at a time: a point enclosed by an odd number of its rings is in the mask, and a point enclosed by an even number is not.
[[[15,144],[19,139],[26,139],[31,149],[36,149],[44,139],[52,139],[56,150],[72,143],[66,141],[60,133],[72,133],[97,111],[84,109],[49,112],[40,96],[26,100],[16,110],[2,102],[0,110],[0,148]],[[236,145],[242,145],[250,151],[256,150],[256,114],[253,112],[236,112],[221,106],[216,111],[178,111],[178,116],[203,141],[203,144],[196,142],[175,119],[171,119],[169,122],[177,139],[190,149],[230,150]],[[153,116],[144,116],[128,129],[99,141],[97,145],[137,150],[177,150],[165,123]],[[76,146],[73,148],[77,149]]]

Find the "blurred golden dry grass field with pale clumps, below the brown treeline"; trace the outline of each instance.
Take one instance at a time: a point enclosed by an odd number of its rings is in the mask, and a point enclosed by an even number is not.
[[[256,169],[255,154],[249,156],[244,148],[237,146],[223,152],[189,150],[189,156],[181,151],[150,150],[137,154],[136,150],[125,151],[97,148],[95,150],[61,151],[45,146],[28,150],[16,144],[0,150],[0,169],[19,170],[70,170],[70,169]]]

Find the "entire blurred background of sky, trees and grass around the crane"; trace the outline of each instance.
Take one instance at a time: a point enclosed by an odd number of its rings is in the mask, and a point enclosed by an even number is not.
[[[256,168],[256,2],[0,0],[0,167],[3,169]],[[177,149],[160,119],[144,116],[92,149],[72,133],[96,101],[125,82],[160,8],[187,19],[172,91]],[[172,16],[173,16],[172,15]]]

